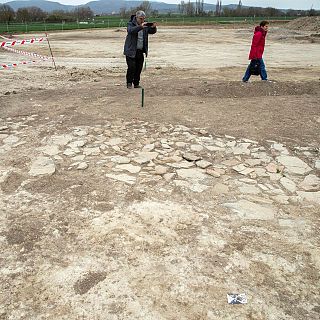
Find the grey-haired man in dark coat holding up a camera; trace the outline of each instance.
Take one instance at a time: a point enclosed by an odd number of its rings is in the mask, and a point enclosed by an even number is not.
[[[127,27],[127,37],[124,44],[124,54],[128,65],[127,88],[141,88],[140,74],[143,67],[144,55],[148,56],[148,35],[157,32],[157,25],[148,26],[145,22],[144,11],[137,11],[131,16]]]

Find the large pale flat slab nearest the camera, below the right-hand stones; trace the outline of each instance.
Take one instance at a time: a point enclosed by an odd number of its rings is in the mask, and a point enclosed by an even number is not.
[[[272,220],[277,213],[270,205],[264,206],[248,200],[225,203],[224,206],[237,213],[240,218],[248,220]]]

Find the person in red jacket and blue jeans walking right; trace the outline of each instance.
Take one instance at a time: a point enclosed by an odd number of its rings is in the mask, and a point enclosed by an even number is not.
[[[262,59],[268,28],[269,28],[269,22],[264,20],[264,21],[261,21],[260,25],[255,27],[254,29],[254,35],[252,38],[251,50],[249,54],[249,60],[251,61],[242,78],[243,82],[248,82],[251,76],[250,70],[252,66],[252,60],[259,60],[261,80],[265,80],[265,81],[268,80],[266,66]]]

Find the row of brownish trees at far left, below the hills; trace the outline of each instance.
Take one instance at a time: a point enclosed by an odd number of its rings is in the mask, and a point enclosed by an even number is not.
[[[72,11],[55,10],[50,13],[38,7],[19,8],[14,11],[7,4],[0,4],[0,23],[12,22],[74,22],[92,19],[93,11],[89,7],[77,7]]]

